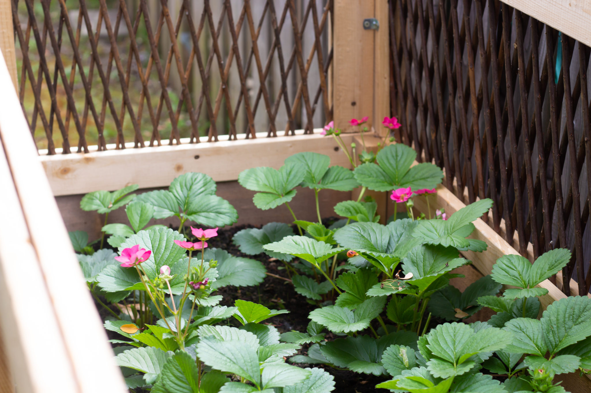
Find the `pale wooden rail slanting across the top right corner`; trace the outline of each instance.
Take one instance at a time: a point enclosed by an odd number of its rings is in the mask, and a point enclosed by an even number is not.
[[[591,1],[501,0],[538,21],[591,46]]]

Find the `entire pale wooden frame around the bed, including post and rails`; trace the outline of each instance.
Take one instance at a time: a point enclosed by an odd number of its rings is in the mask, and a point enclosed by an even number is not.
[[[550,8],[545,0],[504,2],[591,44],[588,34],[591,17],[580,4],[571,5],[560,0],[553,2],[554,8]],[[363,7],[368,7],[368,3],[364,1]],[[362,2],[358,4],[361,8]],[[375,15],[388,12],[387,0],[375,0],[372,6]],[[335,0],[335,19],[343,23],[335,25],[333,32],[336,66],[332,70],[334,81],[330,82],[333,83],[335,121],[337,126],[343,127],[346,119],[359,114],[371,113],[374,120],[389,114],[389,58],[384,55],[387,54],[384,48],[388,48],[388,18],[380,21],[384,34],[372,38],[372,45],[378,49],[376,53],[381,54],[374,63],[373,84],[361,93],[358,86],[349,85],[350,78],[359,74],[363,64],[360,61],[353,65],[347,60],[355,57],[357,49],[366,44],[353,43],[349,38],[348,28],[358,24],[362,17],[358,11],[348,1]],[[0,220],[0,391],[14,391],[17,385],[19,391],[31,393],[54,391],[58,386],[67,393],[125,392],[102,321],[67,236],[66,224],[72,222],[64,224],[58,205],[62,213],[76,211],[79,199],[76,201],[72,196],[100,189],[114,190],[128,183],[137,183],[141,189],[164,187],[186,171],[201,171],[216,181],[230,182],[225,183],[230,189],[235,184],[231,182],[243,169],[278,167],[285,157],[298,151],[327,154],[332,164],[348,166],[348,161],[331,138],[319,134],[38,157],[14,91],[17,72],[11,2],[0,2],[0,25],[0,48],[7,54],[9,63],[7,67],[0,55],[3,92],[0,96],[0,203],[3,206]],[[360,104],[353,108],[355,102]],[[344,134],[343,139],[350,144],[355,136]],[[105,172],[110,176],[100,176]],[[53,196],[58,197],[58,203]],[[228,199],[232,203],[232,199]],[[386,198],[379,202],[386,213]],[[443,186],[431,199],[433,209],[444,208],[448,214],[463,206],[463,202]],[[417,198],[415,208],[420,211],[426,206]],[[238,210],[242,212],[240,206]],[[481,219],[476,220],[475,226],[473,236],[485,240],[488,250],[464,255],[483,275],[491,272],[498,257],[518,254]],[[48,228],[51,236],[47,236]],[[557,275],[557,283],[562,285],[560,275]],[[572,282],[569,285],[576,295],[576,286]],[[541,299],[544,307],[564,298],[549,280],[540,286],[549,291]],[[31,311],[33,304],[35,308]],[[40,321],[43,322],[41,332],[34,329]],[[582,391],[589,391],[585,389]]]

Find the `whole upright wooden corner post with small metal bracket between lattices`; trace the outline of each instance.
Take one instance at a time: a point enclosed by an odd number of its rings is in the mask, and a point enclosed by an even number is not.
[[[334,13],[335,127],[358,132],[349,120],[368,116],[366,126],[381,132],[390,105],[388,0],[335,0]]]

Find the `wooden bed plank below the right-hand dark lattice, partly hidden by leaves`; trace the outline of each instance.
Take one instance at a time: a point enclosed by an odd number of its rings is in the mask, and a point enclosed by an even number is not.
[[[430,194],[428,196],[429,204],[431,207],[431,214],[436,209],[445,209],[446,214],[449,216],[457,212],[457,210],[465,207],[466,204],[458,199],[452,191],[448,190],[443,184],[437,186],[437,193]],[[425,197],[416,197],[413,199],[414,207],[419,211],[427,215],[427,202]],[[505,241],[498,233],[495,232],[487,223],[482,219],[477,219],[474,222],[475,230],[470,236],[472,239],[482,240],[486,242],[488,246],[485,252],[472,252],[462,251],[462,255],[472,261],[472,264],[482,273],[483,275],[489,275],[492,272],[492,266],[495,265],[496,260],[504,255],[519,255],[519,252],[514,249],[509,243]],[[550,282],[550,280],[544,280],[539,285],[540,288],[548,290],[548,294],[540,296],[540,302],[542,308],[545,310],[548,305],[558,299],[566,298],[566,295],[557,288],[556,285]]]

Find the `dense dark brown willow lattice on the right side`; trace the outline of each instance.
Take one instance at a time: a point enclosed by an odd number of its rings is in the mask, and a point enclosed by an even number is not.
[[[523,255],[573,251],[589,292],[589,47],[496,0],[390,0],[392,113],[402,140]],[[564,285],[569,295],[569,285]]]

